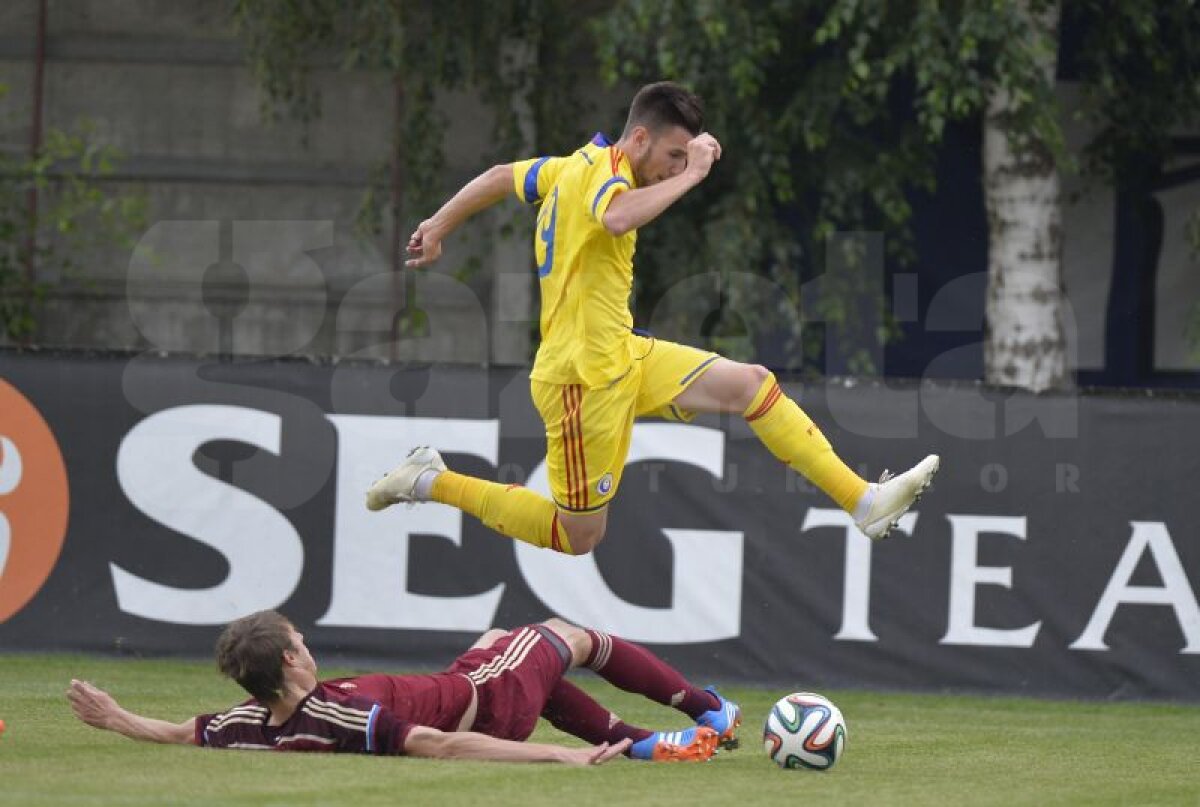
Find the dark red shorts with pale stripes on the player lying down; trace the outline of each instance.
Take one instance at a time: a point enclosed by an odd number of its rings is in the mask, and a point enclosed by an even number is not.
[[[571,651],[557,633],[529,624],[510,630],[491,647],[468,650],[446,671],[461,672],[475,683],[479,710],[472,731],[524,740],[570,663]]]

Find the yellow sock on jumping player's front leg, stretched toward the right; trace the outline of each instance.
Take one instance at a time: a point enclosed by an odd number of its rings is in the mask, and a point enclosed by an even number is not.
[[[823,490],[846,512],[866,492],[866,480],[846,467],[829,441],[769,373],[743,413],[772,454]]]

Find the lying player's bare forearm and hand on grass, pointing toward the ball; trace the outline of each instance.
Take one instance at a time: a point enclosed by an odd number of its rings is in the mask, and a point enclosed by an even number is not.
[[[562,763],[601,765],[629,748],[629,740],[584,748],[566,748],[541,742],[497,740],[474,731],[438,731],[419,725],[404,740],[404,753],[432,759],[479,759],[493,763]]]

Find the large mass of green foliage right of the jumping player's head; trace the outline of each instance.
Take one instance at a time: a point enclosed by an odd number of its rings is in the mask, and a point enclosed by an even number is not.
[[[1016,127],[1062,142],[1012,4],[623,0],[601,31],[610,80],[691,85],[726,145],[725,187],[697,199],[677,232],[661,227],[642,269],[652,264],[662,285],[695,267],[749,269],[794,295],[798,280],[836,264],[804,312],[826,323],[856,371],[872,369],[864,345],[895,329],[862,333],[863,322],[888,322],[880,275],[852,256],[834,261],[830,237],[882,232],[893,262],[911,262],[911,193],[934,189],[946,124],[978,115],[997,84],[1018,98]],[[679,238],[685,227],[694,238]],[[866,317],[864,301],[875,309]],[[785,305],[782,321],[761,322],[796,337],[796,311]]]

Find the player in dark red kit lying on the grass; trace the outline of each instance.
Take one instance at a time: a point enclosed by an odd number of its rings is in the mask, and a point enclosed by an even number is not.
[[[67,699],[80,721],[132,740],[214,748],[408,754],[598,765],[632,759],[701,761],[737,745],[742,715],[715,689],[698,689],[644,647],[547,620],[485,633],[444,671],[317,680],[304,635],[282,615],[259,611],[217,640],[217,666],[252,695],[217,715],[169,723],[134,715],[86,681]],[[629,725],[563,679],[575,666],[673,706],[696,724],[680,731]],[[588,748],[520,742],[545,717]]]

